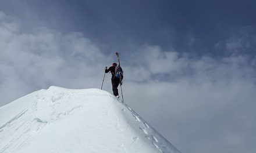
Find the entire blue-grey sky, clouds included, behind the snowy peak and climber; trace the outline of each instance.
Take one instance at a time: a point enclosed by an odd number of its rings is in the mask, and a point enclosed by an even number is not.
[[[1,0],[0,106],[100,88],[120,52],[126,103],[180,151],[255,152],[255,3]]]

